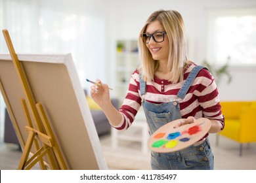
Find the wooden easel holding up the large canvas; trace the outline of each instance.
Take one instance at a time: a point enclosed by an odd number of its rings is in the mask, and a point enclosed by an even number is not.
[[[41,103],[35,103],[22,62],[17,58],[7,29],[3,30],[3,35],[26,97],[26,99],[21,99],[21,103],[28,122],[28,125],[25,126],[28,132],[28,139],[24,144],[18,169],[31,169],[37,162],[39,162],[41,169],[68,169],[49,124],[45,109]],[[3,90],[3,87],[1,87],[1,90]],[[10,106],[5,92],[3,91],[2,93],[7,107]],[[35,153],[30,157],[33,144]],[[47,162],[44,158],[47,159]]]

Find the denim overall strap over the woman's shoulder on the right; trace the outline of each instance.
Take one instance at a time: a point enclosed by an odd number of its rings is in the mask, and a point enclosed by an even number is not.
[[[192,82],[198,75],[199,71],[201,71],[201,69],[203,69],[203,68],[205,68],[205,67],[198,65],[192,69],[192,71],[188,75],[188,78],[186,78],[186,81],[184,82],[182,88],[179,90],[179,92],[177,94],[177,96],[179,98],[184,99],[186,92],[188,92],[188,89],[190,88]]]

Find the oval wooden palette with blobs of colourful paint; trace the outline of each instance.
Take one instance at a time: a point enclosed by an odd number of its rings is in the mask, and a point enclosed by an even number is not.
[[[169,122],[155,131],[148,140],[148,148],[154,152],[175,152],[200,141],[211,127],[209,119],[199,118],[192,124],[174,128],[181,120]]]

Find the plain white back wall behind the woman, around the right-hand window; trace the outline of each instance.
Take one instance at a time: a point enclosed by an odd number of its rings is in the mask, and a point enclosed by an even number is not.
[[[172,9],[181,12],[190,41],[189,59],[202,63],[207,59],[207,14],[209,10],[223,8],[256,7],[255,0],[129,0],[108,1],[106,13],[107,62],[113,63],[114,41],[117,38],[137,39],[144,22],[152,12],[159,9]],[[233,80],[230,84],[220,82],[219,93],[222,100],[256,100],[256,67],[230,67]],[[108,65],[108,80],[111,84],[113,73]]]

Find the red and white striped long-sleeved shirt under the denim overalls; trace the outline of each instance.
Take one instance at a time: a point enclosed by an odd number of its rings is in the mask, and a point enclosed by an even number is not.
[[[177,93],[195,66],[195,64],[191,64],[184,72],[184,80],[175,84],[156,77],[154,80],[146,82],[144,99],[150,103],[158,104],[178,101],[182,118],[194,116],[196,119],[204,117],[219,120],[224,127],[224,117],[221,112],[221,105],[219,104],[217,86],[213,76],[207,69],[202,69],[198,73],[184,99],[177,97]],[[131,126],[135,115],[141,107],[141,101],[139,71],[135,70],[131,75],[129,90],[123,105],[119,109],[119,112],[122,114],[122,121],[119,125],[114,126],[116,129],[125,130]]]

